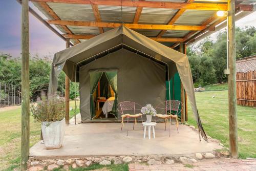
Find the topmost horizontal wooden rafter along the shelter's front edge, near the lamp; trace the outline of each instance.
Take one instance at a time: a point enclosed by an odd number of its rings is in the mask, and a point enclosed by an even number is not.
[[[130,1],[130,0],[31,0],[33,2],[53,2],[69,4],[96,4],[106,6],[147,7],[147,8],[169,8],[190,10],[227,10],[227,4],[218,3],[179,3],[179,2],[156,2],[156,1]],[[239,4],[241,10],[253,10],[253,5]]]

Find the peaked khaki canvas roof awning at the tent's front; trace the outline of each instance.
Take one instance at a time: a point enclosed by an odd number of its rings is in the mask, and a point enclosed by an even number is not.
[[[168,48],[125,26],[120,26],[56,53],[53,65],[63,66],[63,71],[72,81],[75,81],[74,68],[76,66],[81,67],[98,57],[105,56],[121,48],[142,56],[148,56],[165,65],[170,65],[186,58],[183,53]]]

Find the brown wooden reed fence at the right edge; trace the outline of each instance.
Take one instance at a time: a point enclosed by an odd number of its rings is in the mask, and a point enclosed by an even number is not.
[[[256,108],[256,71],[237,73],[237,104]]]

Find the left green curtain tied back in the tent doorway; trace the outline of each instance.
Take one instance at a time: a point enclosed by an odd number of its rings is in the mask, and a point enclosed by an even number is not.
[[[90,111],[91,119],[95,116],[95,103],[93,93],[97,89],[102,72],[90,72]]]

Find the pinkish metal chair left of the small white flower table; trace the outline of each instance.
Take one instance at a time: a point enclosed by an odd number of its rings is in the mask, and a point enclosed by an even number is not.
[[[122,131],[122,128],[123,128],[123,119],[124,118],[127,118],[127,123],[129,123],[129,118],[135,118],[135,121],[133,123],[133,130],[134,130],[134,124],[137,123],[137,117],[141,117],[141,121],[143,122],[143,119],[142,119],[142,114],[141,113],[138,113],[136,114],[136,111],[140,111],[142,108],[142,106],[138,103],[135,103],[133,101],[123,101],[123,102],[120,102],[117,104],[117,111],[118,113],[121,114],[121,117],[122,117],[122,126],[121,126],[121,131]],[[133,114],[124,114],[124,111],[133,111]],[[142,128],[143,128],[143,125],[142,125]],[[128,127],[127,127],[127,135],[128,136]]]

